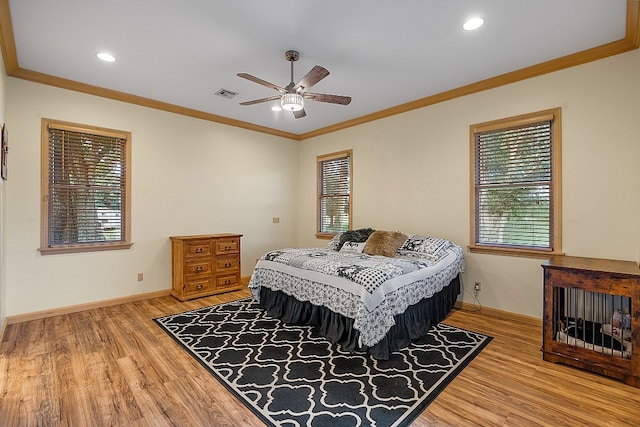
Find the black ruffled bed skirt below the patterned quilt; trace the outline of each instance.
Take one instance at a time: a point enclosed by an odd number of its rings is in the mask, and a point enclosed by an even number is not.
[[[444,320],[460,294],[460,275],[456,276],[444,289],[428,299],[410,306],[403,314],[394,317],[395,325],[376,345],[361,348],[358,345],[360,333],[353,328],[353,319],[319,307],[308,301],[298,301],[281,291],[260,288],[260,306],[270,316],[292,325],[313,326],[316,331],[342,350],[367,352],[375,359],[388,360],[389,355],[407,347],[427,333],[431,326]]]

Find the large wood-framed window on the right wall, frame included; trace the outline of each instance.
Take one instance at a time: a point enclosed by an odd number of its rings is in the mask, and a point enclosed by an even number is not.
[[[560,112],[472,125],[472,252],[561,252]]]

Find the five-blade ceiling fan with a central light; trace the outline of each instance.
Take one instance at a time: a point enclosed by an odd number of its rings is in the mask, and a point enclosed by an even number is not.
[[[291,62],[291,82],[285,87],[280,87],[262,80],[258,77],[247,73],[238,73],[238,77],[251,80],[252,82],[275,89],[280,92],[279,95],[273,95],[267,98],[254,99],[253,101],[241,102],[240,105],[254,105],[262,102],[280,100],[282,109],[292,111],[296,119],[307,115],[304,111],[304,100],[328,102],[330,104],[348,105],[351,102],[350,96],[329,95],[326,93],[307,92],[311,86],[318,83],[329,75],[329,70],[316,65],[309,71],[298,83],[293,82],[293,63],[300,58],[300,54],[295,50],[288,50],[284,54],[287,61]]]

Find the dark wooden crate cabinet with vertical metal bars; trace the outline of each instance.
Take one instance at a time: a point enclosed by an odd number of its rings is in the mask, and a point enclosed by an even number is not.
[[[640,269],[632,261],[556,256],[544,269],[543,359],[620,379],[640,387]],[[585,342],[601,336],[618,306],[628,308],[632,350],[614,353],[612,344]],[[589,312],[605,312],[592,315]],[[567,329],[573,326],[573,335]],[[579,329],[578,329],[579,327]],[[563,331],[568,331],[563,335]],[[559,338],[561,337],[561,338]],[[573,337],[577,337],[578,340]],[[580,339],[582,338],[582,340]],[[596,341],[597,342],[597,339]],[[604,342],[604,341],[600,341]],[[613,343],[613,341],[607,341]],[[604,346],[604,347],[602,347]],[[607,347],[607,346],[610,346]],[[630,354],[629,354],[630,353]]]

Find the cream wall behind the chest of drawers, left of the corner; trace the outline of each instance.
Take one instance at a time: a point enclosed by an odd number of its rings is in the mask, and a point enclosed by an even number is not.
[[[297,242],[296,142],[14,78],[7,83],[7,315],[169,289],[171,235],[244,234],[245,276],[266,250]],[[41,117],[132,132],[130,250],[40,255]]]

